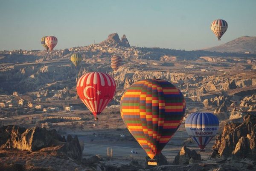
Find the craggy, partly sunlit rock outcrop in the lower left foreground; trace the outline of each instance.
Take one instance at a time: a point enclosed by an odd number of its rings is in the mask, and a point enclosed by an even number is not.
[[[81,161],[82,151],[77,137],[61,137],[55,129],[48,131],[38,127],[20,128],[14,125],[0,128],[0,149],[22,151],[51,151]]]

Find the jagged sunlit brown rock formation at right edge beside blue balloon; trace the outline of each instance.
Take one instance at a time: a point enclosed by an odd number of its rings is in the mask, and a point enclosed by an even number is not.
[[[213,150],[223,159],[254,158],[256,155],[256,115],[247,114],[242,123],[227,123],[216,136]]]

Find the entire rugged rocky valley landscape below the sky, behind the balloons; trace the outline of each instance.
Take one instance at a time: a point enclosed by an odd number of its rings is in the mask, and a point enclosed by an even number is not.
[[[77,68],[70,62],[76,52],[84,58]],[[119,39],[117,34],[85,47],[10,53],[0,53],[0,101],[11,99],[14,103],[22,98],[60,111],[44,113],[26,105],[1,108],[0,170],[256,169],[255,54],[130,47],[126,36]],[[117,71],[110,66],[114,53],[123,61]],[[76,95],[76,81],[91,71],[109,73],[117,85],[113,101],[98,122]],[[202,111],[219,118],[216,142],[212,140],[206,152],[198,151],[181,124],[162,151],[164,165],[145,165],[145,152],[120,117],[119,101],[126,88],[147,78],[170,81],[181,90],[186,100],[185,118]],[[19,96],[9,95],[13,91]],[[63,111],[67,105],[75,110]],[[45,122],[51,122],[49,129],[35,127]],[[113,148],[112,157],[106,155],[108,147]],[[138,155],[131,155],[131,149]]]

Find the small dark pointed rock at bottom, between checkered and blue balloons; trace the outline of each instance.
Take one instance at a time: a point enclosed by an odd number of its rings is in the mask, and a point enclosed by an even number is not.
[[[175,165],[187,165],[189,161],[192,163],[200,162],[201,155],[196,153],[195,150],[190,150],[186,146],[180,149],[180,152],[175,157],[173,164]]]

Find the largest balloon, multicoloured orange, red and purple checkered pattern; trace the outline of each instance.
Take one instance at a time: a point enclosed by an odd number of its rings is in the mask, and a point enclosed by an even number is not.
[[[186,103],[179,89],[160,79],[145,79],[122,95],[122,119],[151,159],[160,154],[180,126]]]

